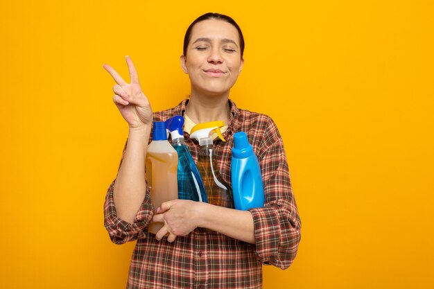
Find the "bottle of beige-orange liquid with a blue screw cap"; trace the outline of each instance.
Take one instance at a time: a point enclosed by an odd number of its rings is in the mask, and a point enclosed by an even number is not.
[[[146,180],[154,209],[177,199],[177,152],[167,141],[166,123],[155,121],[153,141],[146,152]],[[148,231],[157,234],[162,222],[150,222]]]

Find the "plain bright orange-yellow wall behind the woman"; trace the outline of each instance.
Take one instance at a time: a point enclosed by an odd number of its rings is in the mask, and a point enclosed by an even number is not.
[[[124,288],[132,243],[103,200],[128,128],[107,62],[130,55],[154,110],[189,93],[205,12],[238,21],[232,98],[272,116],[302,217],[263,288],[433,288],[433,1],[1,1],[0,287]]]

